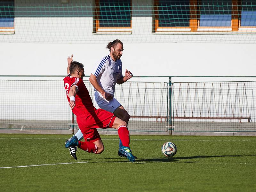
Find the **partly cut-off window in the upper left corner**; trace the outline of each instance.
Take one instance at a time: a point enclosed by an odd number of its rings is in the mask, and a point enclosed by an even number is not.
[[[14,34],[14,0],[0,1],[0,34]]]

